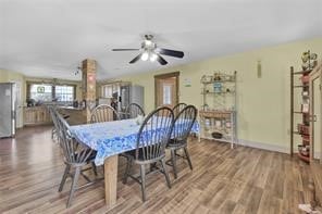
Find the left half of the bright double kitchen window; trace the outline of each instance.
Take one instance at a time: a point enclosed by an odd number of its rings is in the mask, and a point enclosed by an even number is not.
[[[42,84],[30,85],[30,98],[36,101],[51,101],[52,86]]]

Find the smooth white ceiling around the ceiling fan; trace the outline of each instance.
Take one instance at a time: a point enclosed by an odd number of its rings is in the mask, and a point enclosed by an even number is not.
[[[173,66],[322,36],[321,0],[0,0],[0,68],[27,76],[81,79],[81,61],[98,62],[98,78],[163,68],[128,64],[143,35]]]

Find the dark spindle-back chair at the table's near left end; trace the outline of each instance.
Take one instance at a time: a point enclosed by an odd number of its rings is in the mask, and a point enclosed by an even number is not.
[[[74,192],[76,190],[92,185],[96,181],[101,180],[102,178],[89,179],[89,177],[84,174],[85,171],[92,169],[95,176],[97,176],[96,166],[94,164],[96,151],[76,141],[71,136],[70,126],[66,123],[66,121],[59,114],[57,116],[59,127],[58,135],[60,138],[59,142],[62,149],[65,163],[65,171],[60,182],[59,192],[63,190],[67,177],[72,177],[70,197],[66,204],[66,206],[70,207],[72,204]],[[89,165],[89,167],[85,168],[85,166],[87,165]],[[81,175],[87,180],[87,184],[77,187],[78,178]]]

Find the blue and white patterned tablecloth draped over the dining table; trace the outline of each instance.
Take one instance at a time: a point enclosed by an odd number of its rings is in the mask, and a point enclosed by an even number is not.
[[[71,126],[71,133],[78,141],[97,151],[95,164],[102,165],[106,158],[135,149],[139,128],[136,119],[123,119]],[[197,122],[191,133],[199,133]]]

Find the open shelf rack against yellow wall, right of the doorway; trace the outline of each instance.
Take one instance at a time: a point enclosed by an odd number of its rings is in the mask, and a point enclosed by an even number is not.
[[[203,75],[199,111],[200,138],[230,142],[232,148],[237,142],[236,77],[237,72]]]

